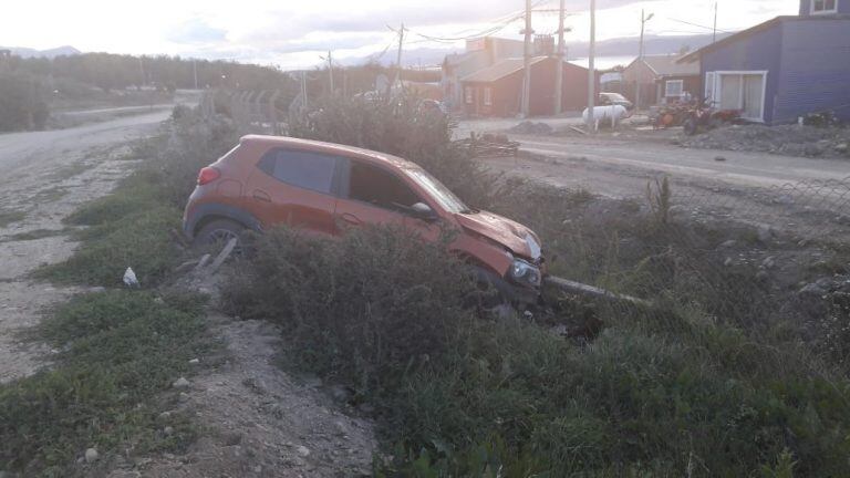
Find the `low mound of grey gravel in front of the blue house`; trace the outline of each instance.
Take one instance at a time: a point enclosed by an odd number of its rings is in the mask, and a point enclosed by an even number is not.
[[[850,158],[850,128],[735,125],[685,137],[680,144],[697,149],[730,149],[785,156]]]

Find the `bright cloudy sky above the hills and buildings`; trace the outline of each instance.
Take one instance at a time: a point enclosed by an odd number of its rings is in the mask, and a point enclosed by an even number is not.
[[[558,0],[532,0],[537,33],[557,30]],[[589,0],[567,0],[567,41],[587,41]],[[647,34],[709,33],[715,0],[598,0],[600,40],[635,37],[641,10]],[[736,31],[780,14],[798,0],[718,0],[717,28]],[[522,0],[3,0],[0,45],[39,50],[72,45],[85,52],[169,54],[312,67],[334,59],[395,54],[405,49],[463,49],[463,39],[493,31],[521,39]],[[429,39],[431,38],[431,39]],[[434,38],[445,39],[434,41]]]

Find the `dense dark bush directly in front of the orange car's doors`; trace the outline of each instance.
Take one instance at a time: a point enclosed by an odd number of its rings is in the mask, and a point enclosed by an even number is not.
[[[391,227],[341,241],[277,228],[231,274],[224,297],[241,316],[283,325],[302,365],[361,394],[398,386],[453,341],[473,284],[443,243]]]

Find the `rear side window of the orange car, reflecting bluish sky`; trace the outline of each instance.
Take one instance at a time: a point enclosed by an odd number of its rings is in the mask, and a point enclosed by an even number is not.
[[[269,176],[304,189],[331,194],[339,158],[321,153],[272,149],[257,165]]]

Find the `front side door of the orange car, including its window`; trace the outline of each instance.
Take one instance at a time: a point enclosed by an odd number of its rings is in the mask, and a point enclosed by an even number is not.
[[[366,162],[348,160],[343,166],[336,222],[340,227],[362,225],[410,226],[410,208],[422,198],[390,168]]]

